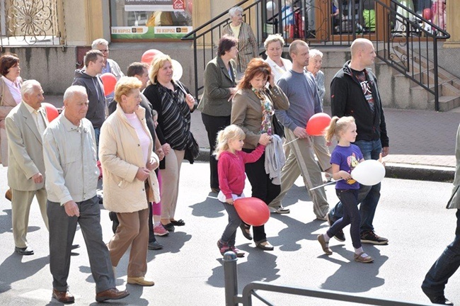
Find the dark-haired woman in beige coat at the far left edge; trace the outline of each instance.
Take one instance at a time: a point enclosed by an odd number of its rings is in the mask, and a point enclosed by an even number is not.
[[[8,140],[6,139],[5,118],[8,113],[21,103],[21,85],[19,77],[21,68],[17,55],[6,53],[0,57],[0,164],[8,166]],[[5,193],[11,200],[11,188]]]

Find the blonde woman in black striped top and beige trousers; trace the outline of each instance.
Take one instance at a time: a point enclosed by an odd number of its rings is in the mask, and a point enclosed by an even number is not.
[[[190,132],[190,113],[197,101],[180,81],[173,79],[173,64],[169,55],[157,55],[151,64],[151,84],[144,90],[152,109],[158,113],[157,135],[161,145],[168,143],[171,151],[160,163],[161,224],[173,232],[183,226],[183,220],[174,219],[179,194],[180,165],[183,159],[193,162],[190,152],[195,140]]]

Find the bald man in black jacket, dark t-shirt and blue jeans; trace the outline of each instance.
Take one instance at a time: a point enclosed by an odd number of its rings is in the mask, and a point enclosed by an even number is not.
[[[332,115],[353,116],[357,125],[355,145],[360,147],[364,159],[379,159],[389,154],[389,137],[386,134],[384,110],[381,106],[377,81],[371,69],[376,53],[370,40],[357,38],[350,48],[352,60],[346,62],[330,83]],[[380,198],[380,183],[360,187],[358,200],[361,212],[361,242],[387,244],[388,239],[374,232],[372,222]],[[343,215],[342,203],[328,214],[333,224]],[[344,241],[343,232],[335,238]]]

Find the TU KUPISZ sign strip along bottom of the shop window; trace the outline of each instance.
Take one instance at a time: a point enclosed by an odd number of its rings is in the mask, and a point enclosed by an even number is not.
[[[115,39],[154,39],[154,38],[182,38],[193,30],[191,26],[126,26],[112,27],[112,38]]]

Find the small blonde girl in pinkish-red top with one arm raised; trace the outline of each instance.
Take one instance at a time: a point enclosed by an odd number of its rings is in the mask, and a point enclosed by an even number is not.
[[[263,154],[265,146],[259,145],[251,153],[241,151],[243,140],[246,137],[238,125],[229,125],[217,134],[217,144],[214,151],[219,176],[219,194],[217,198],[223,203],[229,214],[229,223],[226,225],[217,246],[222,255],[226,251],[234,251],[236,256],[243,257],[244,252],[236,249],[236,229],[241,225],[241,218],[234,207],[234,200],[244,198],[243,189],[246,174],[244,164],[257,162]],[[265,134],[261,137],[270,137]]]

